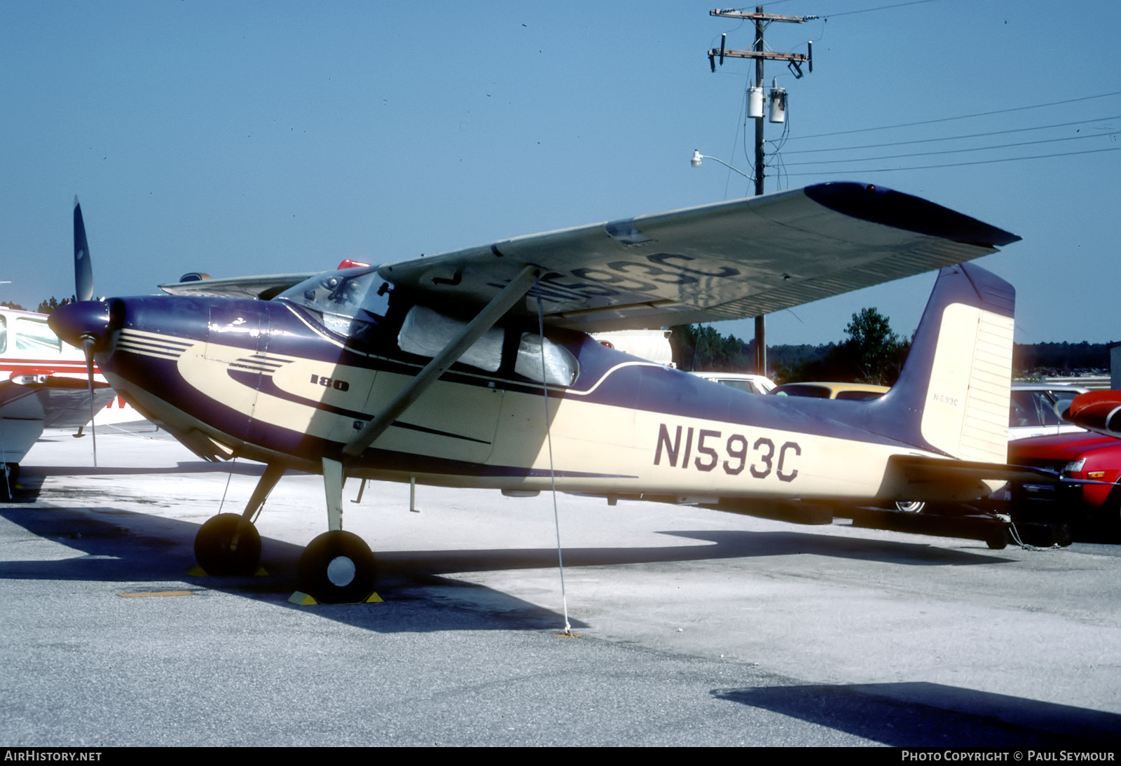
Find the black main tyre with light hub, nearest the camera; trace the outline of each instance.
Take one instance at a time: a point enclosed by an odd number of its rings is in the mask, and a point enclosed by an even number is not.
[[[324,532],[299,557],[300,587],[321,604],[354,604],[373,591],[373,553],[352,532]]]

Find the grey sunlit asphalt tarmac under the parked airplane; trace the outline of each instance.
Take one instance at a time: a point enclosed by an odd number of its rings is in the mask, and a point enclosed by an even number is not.
[[[322,479],[266,574],[191,574],[261,466],[48,431],[0,504],[0,746],[888,745],[1114,750],[1114,545],[984,543],[701,508],[365,487],[382,602],[297,606]],[[224,501],[223,501],[224,496]],[[223,504],[224,503],[224,504]]]

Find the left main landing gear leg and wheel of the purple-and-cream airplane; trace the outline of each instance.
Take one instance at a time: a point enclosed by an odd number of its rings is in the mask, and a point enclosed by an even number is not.
[[[252,574],[261,560],[261,535],[253,526],[253,515],[265,504],[285,467],[270,463],[261,474],[245,510],[220,513],[198,527],[195,535],[195,561],[207,574]]]

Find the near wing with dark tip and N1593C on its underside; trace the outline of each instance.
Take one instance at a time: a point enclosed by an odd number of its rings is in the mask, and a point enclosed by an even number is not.
[[[995,252],[1020,237],[899,192],[831,183],[532,234],[390,263],[380,274],[439,305],[488,302],[545,270],[553,325],[602,331],[754,317]]]

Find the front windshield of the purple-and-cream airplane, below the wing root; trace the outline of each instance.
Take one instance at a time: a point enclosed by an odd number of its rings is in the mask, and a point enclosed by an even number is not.
[[[378,275],[377,267],[361,267],[316,274],[274,300],[288,300],[316,311],[328,329],[346,335],[354,319],[377,321],[386,316],[391,288]]]

